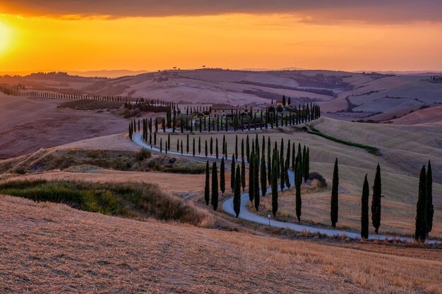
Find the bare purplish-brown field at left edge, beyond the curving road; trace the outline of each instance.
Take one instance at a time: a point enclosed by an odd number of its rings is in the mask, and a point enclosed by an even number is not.
[[[57,108],[62,102],[6,96],[0,92],[0,159],[127,130],[124,118]]]

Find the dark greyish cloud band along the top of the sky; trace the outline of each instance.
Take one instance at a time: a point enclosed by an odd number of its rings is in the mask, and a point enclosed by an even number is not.
[[[442,21],[440,0],[2,0],[0,6],[2,13],[53,18],[285,13],[313,23]]]

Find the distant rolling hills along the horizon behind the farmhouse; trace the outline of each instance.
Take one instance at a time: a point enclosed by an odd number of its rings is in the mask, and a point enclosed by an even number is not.
[[[341,71],[174,70],[120,78],[28,75],[0,78],[33,90],[164,99],[179,103],[265,103],[285,94],[293,103],[319,102],[341,120],[388,121],[422,106],[442,103],[442,84],[426,75]]]

